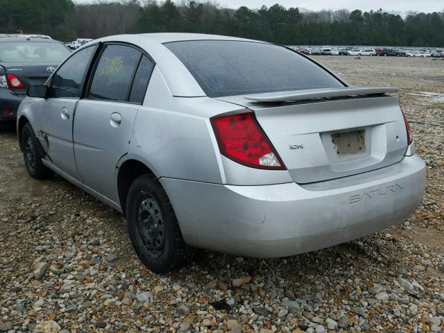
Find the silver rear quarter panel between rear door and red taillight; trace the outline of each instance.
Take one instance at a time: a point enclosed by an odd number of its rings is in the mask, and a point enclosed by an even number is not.
[[[174,97],[156,67],[121,163],[140,160],[157,178],[225,182],[210,117],[238,108],[208,97]]]

